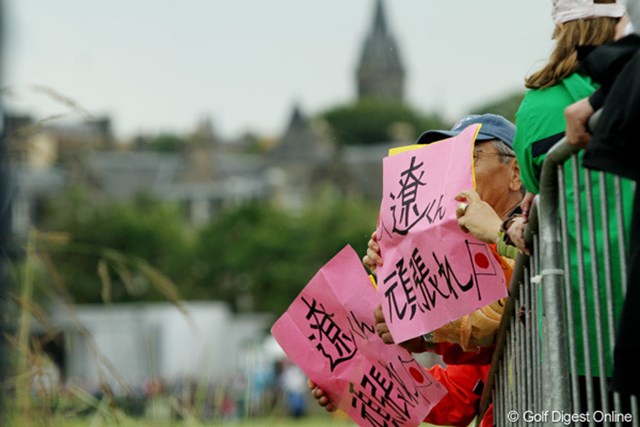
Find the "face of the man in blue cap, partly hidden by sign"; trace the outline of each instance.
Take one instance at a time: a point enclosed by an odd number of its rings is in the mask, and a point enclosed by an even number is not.
[[[515,158],[503,163],[500,153],[490,141],[476,142],[474,148],[474,170],[476,191],[485,202],[496,209],[501,200],[512,190]],[[516,173],[518,171],[516,170]]]

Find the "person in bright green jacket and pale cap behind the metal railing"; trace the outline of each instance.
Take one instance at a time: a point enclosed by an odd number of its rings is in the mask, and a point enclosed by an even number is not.
[[[516,135],[514,149],[520,165],[520,177],[527,192],[537,194],[540,192],[540,174],[542,163],[549,149],[564,137],[565,119],[564,109],[574,102],[588,97],[595,89],[596,84],[589,76],[579,69],[578,49],[580,46],[597,46],[616,37],[616,27],[620,18],[624,15],[624,6],[615,0],[593,0],[593,5],[585,6],[588,2],[576,0],[554,0],[553,18],[556,28],[553,38],[556,40],[555,48],[547,64],[539,71],[526,79],[528,88],[525,97],[516,113]],[[606,3],[606,4],[605,4]],[[581,164],[582,153],[579,154]],[[600,320],[595,316],[596,303],[600,304],[601,312],[607,308],[607,294],[605,291],[604,271],[602,257],[603,230],[609,227],[612,248],[613,270],[613,318],[618,319],[622,305],[622,280],[618,267],[621,254],[617,248],[618,236],[616,221],[613,214],[615,200],[609,196],[608,200],[600,199],[600,183],[595,175],[592,175],[592,192],[594,196],[596,248],[589,247],[587,226],[587,204],[584,191],[578,195],[573,192],[572,165],[567,162],[564,167],[566,179],[566,206],[568,207],[569,228],[569,255],[571,268],[565,273],[565,280],[570,280],[573,306],[574,330],[568,331],[576,338],[576,352],[573,355],[577,360],[577,373],[581,381],[581,388],[586,387],[587,381],[593,379],[595,393],[601,390],[599,377],[611,375],[611,349],[612,345],[607,332],[606,316],[602,322],[604,342],[602,343],[605,359],[600,363],[598,359],[598,342],[596,339],[596,322]],[[579,170],[580,185],[584,188],[584,169]],[[605,185],[608,194],[614,193],[614,178],[607,176]],[[630,181],[622,183],[622,198],[624,209],[624,222],[626,230],[629,229],[631,208],[633,201],[633,184]],[[527,198],[530,200],[530,198]],[[609,212],[609,223],[603,224],[600,206],[605,204]],[[584,219],[581,227],[583,245],[577,247],[577,227],[575,223],[574,208],[579,206],[580,215]],[[527,210],[526,207],[524,209]],[[626,233],[625,233],[626,234]],[[627,236],[625,236],[626,238]],[[584,251],[581,254],[580,251]],[[582,257],[582,260],[579,260]],[[579,261],[584,262],[584,283],[586,288],[586,303],[579,296]],[[597,277],[592,275],[593,262],[596,262]],[[567,274],[568,273],[568,274]],[[594,291],[594,282],[598,291]],[[586,306],[585,306],[586,305]],[[584,313],[582,312],[584,310]],[[585,351],[583,338],[588,337],[589,349]],[[604,368],[603,368],[604,366]],[[581,393],[584,395],[584,390]],[[600,399],[597,397],[597,399]],[[587,408],[584,407],[583,410]]]

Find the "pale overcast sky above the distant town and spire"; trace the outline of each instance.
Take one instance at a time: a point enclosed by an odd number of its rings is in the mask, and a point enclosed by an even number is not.
[[[374,0],[5,0],[5,101],[110,115],[117,136],[280,135],[292,104],[355,98]],[[523,87],[550,53],[551,0],[385,0],[407,98],[450,120]]]

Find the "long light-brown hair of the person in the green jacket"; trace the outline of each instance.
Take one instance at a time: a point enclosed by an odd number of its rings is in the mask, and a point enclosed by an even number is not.
[[[542,89],[558,84],[578,69],[577,46],[598,46],[614,40],[620,18],[576,19],[556,26],[553,39],[556,46],[549,62],[527,79],[525,86]]]

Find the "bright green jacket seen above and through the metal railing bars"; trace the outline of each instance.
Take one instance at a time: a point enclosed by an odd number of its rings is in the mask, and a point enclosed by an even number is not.
[[[514,139],[514,149],[516,151],[516,157],[520,166],[520,177],[527,189],[532,193],[539,193],[540,191],[540,173],[542,170],[542,162],[546,156],[547,151],[551,146],[564,137],[565,119],[564,109],[583,98],[588,97],[596,89],[596,85],[592,80],[579,73],[574,73],[569,77],[562,80],[559,84],[545,88],[545,89],[531,89],[525,94],[525,97],[516,113],[516,134]],[[582,156],[584,151],[579,154],[579,165],[582,164]],[[584,188],[584,173],[586,169],[580,167],[579,181],[581,188]],[[587,205],[584,192],[581,191],[578,198],[573,192],[573,167],[571,162],[568,161],[564,166],[565,182],[566,182],[566,206],[568,207],[567,222],[569,233],[569,259],[571,268],[568,272],[569,275],[565,276],[565,279],[571,281],[572,292],[572,305],[573,305],[573,321],[574,330],[568,331],[572,334],[577,343],[577,351],[575,357],[577,358],[577,367],[579,374],[585,374],[586,360],[585,356],[591,357],[591,373],[594,376],[603,376],[603,373],[599,369],[597,359],[597,341],[596,341],[596,316],[595,316],[595,303],[600,302],[601,313],[604,313],[607,307],[606,287],[605,287],[605,265],[603,259],[603,233],[602,230],[609,227],[610,232],[610,247],[612,256],[612,283],[614,288],[613,296],[613,311],[614,319],[617,319],[620,315],[623,302],[623,284],[621,280],[620,272],[620,257],[624,254],[620,254],[618,251],[618,235],[616,230],[616,217],[615,217],[615,200],[613,198],[614,192],[614,177],[607,175],[605,178],[605,186],[607,187],[609,198],[607,201],[601,200],[600,197],[600,183],[597,175],[594,172],[588,172],[591,175],[591,188],[594,200],[594,216],[595,216],[595,229],[596,229],[596,246],[597,248],[591,248],[589,244],[588,235],[588,221],[587,221]],[[631,208],[633,202],[633,184],[631,181],[622,181],[622,199],[623,199],[623,212],[625,223],[625,238],[628,239],[628,230],[631,219]],[[601,204],[608,206],[609,220],[607,224],[603,224],[602,215],[600,212]],[[576,230],[576,215],[575,209],[580,209],[582,217],[582,248],[577,247],[577,230]],[[626,240],[628,241],[628,240]],[[582,252],[582,255],[580,253]],[[587,331],[589,335],[589,347],[590,351],[585,354],[584,345],[582,344],[583,333],[585,330],[585,324],[583,322],[580,308],[582,306],[581,299],[579,297],[578,290],[578,277],[579,277],[579,259],[584,262],[584,279],[586,284],[586,323]],[[596,265],[593,265],[593,260],[596,260]],[[593,290],[594,275],[592,274],[592,267],[597,268],[597,289]],[[598,295],[598,298],[594,298],[594,295]],[[605,317],[606,319],[606,317]],[[617,325],[616,325],[617,326]],[[608,336],[608,326],[606,320],[603,321],[602,330],[604,331],[604,353],[605,353],[605,375],[611,375],[612,371],[612,345],[611,340],[613,337]],[[610,340],[611,339],[611,340]]]

